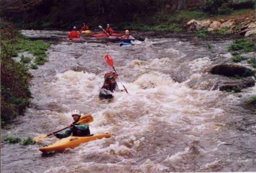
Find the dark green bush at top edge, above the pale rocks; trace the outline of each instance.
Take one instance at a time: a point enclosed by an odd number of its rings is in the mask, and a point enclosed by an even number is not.
[[[202,9],[209,14],[230,14],[229,0],[202,0]]]

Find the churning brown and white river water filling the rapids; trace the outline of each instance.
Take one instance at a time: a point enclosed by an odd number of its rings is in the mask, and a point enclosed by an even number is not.
[[[256,87],[230,94],[204,90],[204,81],[187,85],[201,79],[207,65],[230,56],[230,36],[199,40],[193,33],[134,31],[147,36],[145,42],[119,47],[89,36],[70,42],[63,31],[22,32],[53,44],[49,61],[31,70],[31,108],[2,129],[2,138],[61,129],[72,122],[73,109],[93,115],[91,133],[114,135],[52,155],[38,148],[54,137],[30,146],[2,141],[2,172],[256,171],[255,108],[245,104]],[[207,44],[214,48],[208,50]],[[115,93],[112,101],[98,98],[103,76],[111,70],[106,54],[129,91]]]

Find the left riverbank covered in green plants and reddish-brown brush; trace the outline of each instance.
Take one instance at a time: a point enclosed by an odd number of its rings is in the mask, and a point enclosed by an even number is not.
[[[1,22],[1,125],[22,115],[30,105],[29,79],[31,74],[28,61],[16,62],[13,57],[18,53],[29,52],[35,56],[35,64],[47,60],[46,50],[49,43],[32,41],[21,35],[10,23]]]

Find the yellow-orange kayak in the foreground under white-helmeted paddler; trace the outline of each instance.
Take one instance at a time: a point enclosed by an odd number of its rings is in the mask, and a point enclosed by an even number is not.
[[[91,134],[87,137],[67,137],[58,140],[53,145],[41,147],[39,148],[40,151],[43,153],[47,153],[50,151],[56,151],[56,152],[63,152],[67,148],[74,149],[74,147],[79,146],[81,143],[86,143],[89,141],[94,141],[96,139],[102,139],[102,138],[109,138],[111,137],[111,133],[101,133],[101,134]]]

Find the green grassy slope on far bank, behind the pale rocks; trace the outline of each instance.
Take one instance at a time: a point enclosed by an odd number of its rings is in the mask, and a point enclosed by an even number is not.
[[[174,13],[168,13],[163,11],[162,13],[155,14],[151,17],[134,17],[134,21],[131,23],[120,23],[120,28],[127,28],[130,30],[151,30],[151,31],[174,31],[179,32],[186,28],[186,23],[191,19],[203,20],[212,19],[219,20],[221,18],[234,19],[237,15],[244,15],[254,13],[253,9],[233,10],[227,15],[210,15],[203,11],[175,11]],[[225,32],[225,31],[223,31]],[[225,33],[219,33],[225,34]]]

